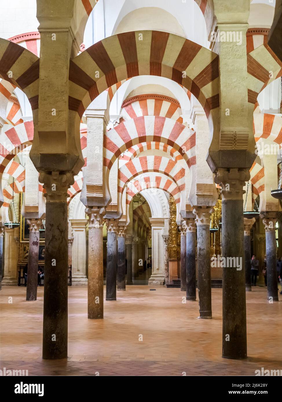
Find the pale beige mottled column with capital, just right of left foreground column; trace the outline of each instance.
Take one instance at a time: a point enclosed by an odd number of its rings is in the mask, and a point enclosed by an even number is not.
[[[104,318],[103,216],[105,208],[85,209],[89,218],[88,232],[88,318]]]

